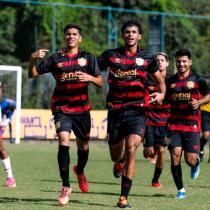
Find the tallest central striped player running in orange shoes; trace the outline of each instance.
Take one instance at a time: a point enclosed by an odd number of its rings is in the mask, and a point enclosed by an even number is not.
[[[151,95],[151,103],[161,103],[165,96],[165,83],[157,68],[155,57],[141,49],[141,25],[127,21],[121,28],[124,46],[108,49],[98,58],[101,70],[107,70],[109,92],[108,144],[111,159],[115,162],[113,173],[121,176],[121,194],[117,206],[131,208],[127,198],[135,171],[136,152],[145,130],[145,105],[149,94],[144,88],[147,73],[157,80],[159,91]]]

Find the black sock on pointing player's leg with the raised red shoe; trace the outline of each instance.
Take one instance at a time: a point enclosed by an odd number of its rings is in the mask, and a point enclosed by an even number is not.
[[[89,149],[87,151],[85,150],[77,150],[77,174],[84,173],[84,168],[88,161],[88,155],[89,155]]]

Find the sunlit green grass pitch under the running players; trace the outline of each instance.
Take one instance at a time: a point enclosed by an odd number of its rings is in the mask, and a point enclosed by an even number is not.
[[[20,145],[5,143],[12,161],[17,187],[8,189],[5,172],[0,170],[0,209],[51,210],[60,209],[57,197],[61,182],[57,166],[57,143],[23,142]],[[71,144],[71,168],[76,163],[76,146]],[[112,175],[112,162],[108,145],[90,144],[89,162],[86,174],[89,192],[83,194],[77,186],[75,175],[70,173],[73,193],[70,203],[63,207],[72,210],[112,210],[120,193],[120,179]],[[154,165],[143,158],[142,146],[138,150],[136,175],[128,198],[132,209],[137,210],[201,210],[210,209],[210,164],[201,164],[201,174],[191,180],[190,168],[183,162],[183,177],[187,198],[176,200],[176,188],[170,172],[169,155],[160,178],[162,188],[150,187]]]

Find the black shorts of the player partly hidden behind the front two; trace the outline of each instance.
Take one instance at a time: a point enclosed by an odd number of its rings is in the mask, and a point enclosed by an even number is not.
[[[167,127],[166,126],[146,126],[144,136],[144,147],[167,146]]]

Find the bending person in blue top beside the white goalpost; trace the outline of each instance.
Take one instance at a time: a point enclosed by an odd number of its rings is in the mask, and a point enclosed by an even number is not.
[[[12,99],[5,99],[0,102],[1,114],[2,114],[2,134],[4,133],[6,126],[9,125],[10,143],[14,143],[12,139],[12,116],[16,109],[16,102]]]

